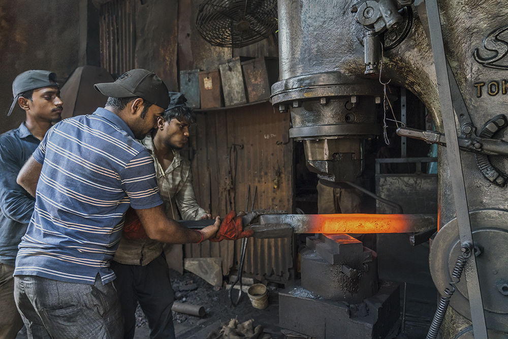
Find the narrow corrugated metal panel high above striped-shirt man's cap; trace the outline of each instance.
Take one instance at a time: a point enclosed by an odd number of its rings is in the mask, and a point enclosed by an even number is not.
[[[101,6],[101,66],[117,77],[134,67],[133,0],[112,0]]]

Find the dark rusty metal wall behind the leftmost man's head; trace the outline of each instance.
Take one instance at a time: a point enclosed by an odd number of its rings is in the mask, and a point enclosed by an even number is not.
[[[18,128],[25,120],[18,105],[6,116],[12,102],[12,82],[18,74],[49,70],[63,84],[78,66],[78,5],[77,1],[0,0],[0,134]]]

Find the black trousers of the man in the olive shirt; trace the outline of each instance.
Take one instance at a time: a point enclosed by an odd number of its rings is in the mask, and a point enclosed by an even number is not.
[[[134,338],[138,301],[148,319],[150,339],[174,339],[171,307],[175,298],[163,256],[146,266],[112,262],[111,268],[116,274],[114,282],[122,306],[125,339]]]

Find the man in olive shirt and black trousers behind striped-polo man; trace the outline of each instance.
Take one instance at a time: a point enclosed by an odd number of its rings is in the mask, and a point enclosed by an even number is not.
[[[143,140],[153,157],[164,210],[170,218],[178,219],[174,201],[182,219],[210,219],[196,201],[190,162],[178,152],[187,143],[188,127],[196,122],[196,116],[181,93],[170,92],[169,97],[168,109],[157,118],[157,128]],[[125,231],[111,263],[122,304],[125,339],[134,337],[138,301],[148,319],[150,338],[175,338],[171,314],[174,295],[163,244],[149,238],[130,239]]]

